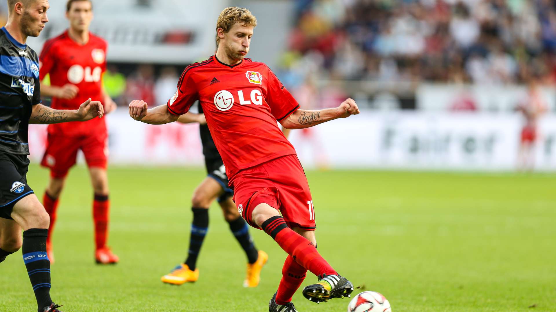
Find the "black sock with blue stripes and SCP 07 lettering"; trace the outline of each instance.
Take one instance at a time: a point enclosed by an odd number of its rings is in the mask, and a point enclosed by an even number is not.
[[[50,260],[46,255],[48,229],[28,229],[23,232],[23,261],[37,298],[38,311],[52,303],[50,299]]]

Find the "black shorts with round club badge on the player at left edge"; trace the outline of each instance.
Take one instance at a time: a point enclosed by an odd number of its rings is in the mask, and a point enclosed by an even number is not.
[[[0,150],[0,218],[12,219],[13,206],[33,193],[27,185],[27,155],[14,155]]]

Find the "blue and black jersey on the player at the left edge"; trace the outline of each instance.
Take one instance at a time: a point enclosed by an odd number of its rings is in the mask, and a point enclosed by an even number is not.
[[[0,150],[29,154],[27,132],[32,107],[41,103],[38,56],[0,30]]]

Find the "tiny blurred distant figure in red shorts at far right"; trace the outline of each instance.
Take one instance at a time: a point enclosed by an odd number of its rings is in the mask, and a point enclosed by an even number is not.
[[[518,105],[517,110],[523,114],[523,126],[518,152],[518,169],[533,170],[535,167],[534,146],[538,139],[539,118],[547,112],[548,105],[543,98],[537,77],[531,77],[527,98]]]

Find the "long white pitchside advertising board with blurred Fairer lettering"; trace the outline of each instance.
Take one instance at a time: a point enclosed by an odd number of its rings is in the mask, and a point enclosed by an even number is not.
[[[202,165],[196,124],[147,125],[127,109],[106,116],[110,162]],[[362,112],[309,130],[292,130],[305,167],[513,170],[522,119],[517,114]],[[556,116],[544,117],[535,146],[539,170],[556,170]],[[31,158],[40,160],[46,126],[29,126]]]

